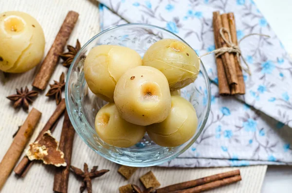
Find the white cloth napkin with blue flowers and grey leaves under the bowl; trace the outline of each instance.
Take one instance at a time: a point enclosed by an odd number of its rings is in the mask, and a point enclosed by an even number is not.
[[[212,12],[234,12],[237,37],[252,76],[243,97],[219,97],[211,85],[211,111],[193,146],[163,166],[219,167],[292,164],[292,61],[252,0],[99,0],[102,29],[141,22],[164,27],[201,55],[213,51]],[[202,62],[218,81],[214,55]],[[290,127],[289,127],[290,126]]]

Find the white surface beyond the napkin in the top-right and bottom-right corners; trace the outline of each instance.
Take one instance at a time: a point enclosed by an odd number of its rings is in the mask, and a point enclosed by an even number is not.
[[[292,0],[255,0],[286,50],[292,55]],[[268,166],[262,193],[291,193],[292,167]]]

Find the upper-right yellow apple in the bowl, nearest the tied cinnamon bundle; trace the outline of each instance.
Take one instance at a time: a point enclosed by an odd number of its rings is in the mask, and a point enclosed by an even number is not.
[[[151,45],[143,56],[143,65],[162,71],[171,91],[194,82],[200,71],[197,53],[177,39],[162,39]]]

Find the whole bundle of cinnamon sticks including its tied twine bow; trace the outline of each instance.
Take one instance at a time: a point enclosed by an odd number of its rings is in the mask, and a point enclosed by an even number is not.
[[[270,36],[263,34],[249,34],[245,35],[237,42],[234,14],[228,13],[220,15],[219,11],[213,12],[213,28],[216,50],[210,53],[215,53],[216,56],[219,94],[223,96],[230,94],[245,94],[245,83],[242,69],[249,75],[251,75],[251,71],[244,57],[242,57],[238,44],[251,35]],[[205,53],[204,55],[210,53]],[[245,68],[241,65],[240,58],[242,58],[242,61],[246,66]]]

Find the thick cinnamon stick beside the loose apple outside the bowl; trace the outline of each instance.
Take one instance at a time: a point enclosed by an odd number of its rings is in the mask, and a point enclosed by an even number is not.
[[[78,16],[79,14],[74,11],[69,11],[67,14],[58,34],[56,35],[51,49],[47,53],[43,63],[41,64],[41,68],[35,77],[33,82],[34,87],[41,90],[44,90],[47,87],[55,70],[55,66],[57,65],[59,55],[64,50],[67,40],[69,39],[75,23],[77,22]]]

